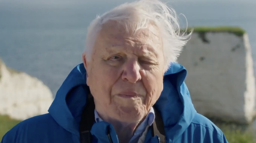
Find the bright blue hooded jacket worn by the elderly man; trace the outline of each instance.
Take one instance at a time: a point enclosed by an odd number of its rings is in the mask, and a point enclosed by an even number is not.
[[[155,104],[163,119],[166,143],[227,143],[222,131],[196,112],[184,83],[186,73],[183,66],[173,63],[165,73],[163,91]],[[79,143],[79,122],[87,94],[86,71],[80,64],[59,88],[49,113],[20,122],[1,143]],[[98,143],[109,143],[107,129],[113,143],[118,143],[113,126],[107,122],[95,123],[91,133]],[[150,130],[144,142],[159,143]]]

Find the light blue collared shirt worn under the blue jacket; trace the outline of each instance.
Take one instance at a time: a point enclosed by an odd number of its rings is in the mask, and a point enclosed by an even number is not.
[[[96,109],[94,110],[94,115],[95,115],[95,121],[100,122],[103,121],[100,117]],[[142,121],[142,123],[139,125],[139,127],[136,129],[134,132],[134,135],[132,136],[131,140],[129,143],[137,143],[139,140],[139,137],[142,135],[142,133],[145,131],[147,126],[151,126],[155,120],[155,112],[153,107],[150,108],[148,115],[146,118]]]

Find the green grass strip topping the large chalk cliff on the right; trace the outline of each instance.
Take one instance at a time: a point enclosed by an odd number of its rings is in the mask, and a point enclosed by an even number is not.
[[[191,31],[191,28],[188,28],[187,31]],[[184,31],[184,30],[181,30]],[[233,33],[237,36],[243,36],[245,34],[245,30],[240,27],[233,27],[233,26],[218,26],[218,27],[208,27],[208,26],[200,26],[200,27],[193,27],[193,32],[197,33],[205,33],[205,32],[228,32]]]

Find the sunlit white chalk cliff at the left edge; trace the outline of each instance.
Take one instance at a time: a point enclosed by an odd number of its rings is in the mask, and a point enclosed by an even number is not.
[[[0,59],[0,114],[24,120],[48,113],[53,102],[49,87],[24,72],[9,69]]]

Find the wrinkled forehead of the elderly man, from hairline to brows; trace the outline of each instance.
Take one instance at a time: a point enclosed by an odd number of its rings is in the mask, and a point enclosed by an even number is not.
[[[146,27],[139,28],[136,23],[125,24],[122,21],[108,21],[101,26],[97,40],[118,44],[123,40],[133,40],[162,50],[160,31],[155,24],[148,23]]]

